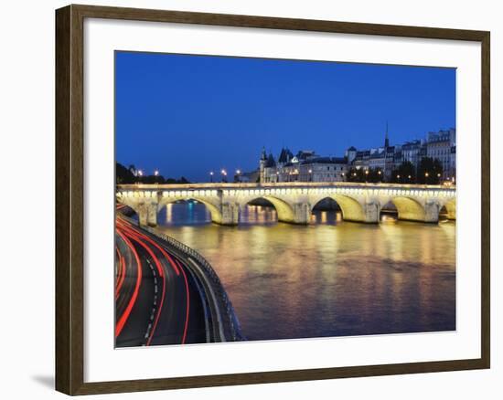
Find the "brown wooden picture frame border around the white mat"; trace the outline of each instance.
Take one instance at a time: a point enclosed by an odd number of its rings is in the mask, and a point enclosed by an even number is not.
[[[250,374],[84,382],[84,143],[83,23],[85,18],[242,26],[356,35],[475,41],[481,44],[482,193],[481,193],[481,357],[424,363],[394,363]],[[69,5],[56,11],[56,389],[68,395],[134,392],[231,384],[333,379],[388,374],[417,374],[489,368],[490,365],[490,144],[489,44],[485,31],[418,26],[389,26],[264,16],[234,16]]]

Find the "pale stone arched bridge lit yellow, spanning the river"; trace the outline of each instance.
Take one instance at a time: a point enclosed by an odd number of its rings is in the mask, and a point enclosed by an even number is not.
[[[278,220],[308,224],[315,205],[326,198],[337,202],[347,221],[379,223],[380,210],[392,203],[398,218],[438,222],[445,207],[455,219],[455,187],[420,184],[278,183],[278,184],[119,184],[117,201],[134,209],[141,225],[155,226],[157,213],[178,200],[206,205],[211,220],[233,226],[241,208],[257,199],[271,202]]]

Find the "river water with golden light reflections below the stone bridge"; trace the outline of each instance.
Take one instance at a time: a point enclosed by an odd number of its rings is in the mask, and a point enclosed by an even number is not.
[[[455,330],[455,223],[323,211],[294,226],[271,207],[243,211],[218,226],[204,205],[172,205],[160,228],[208,258],[248,339]]]

